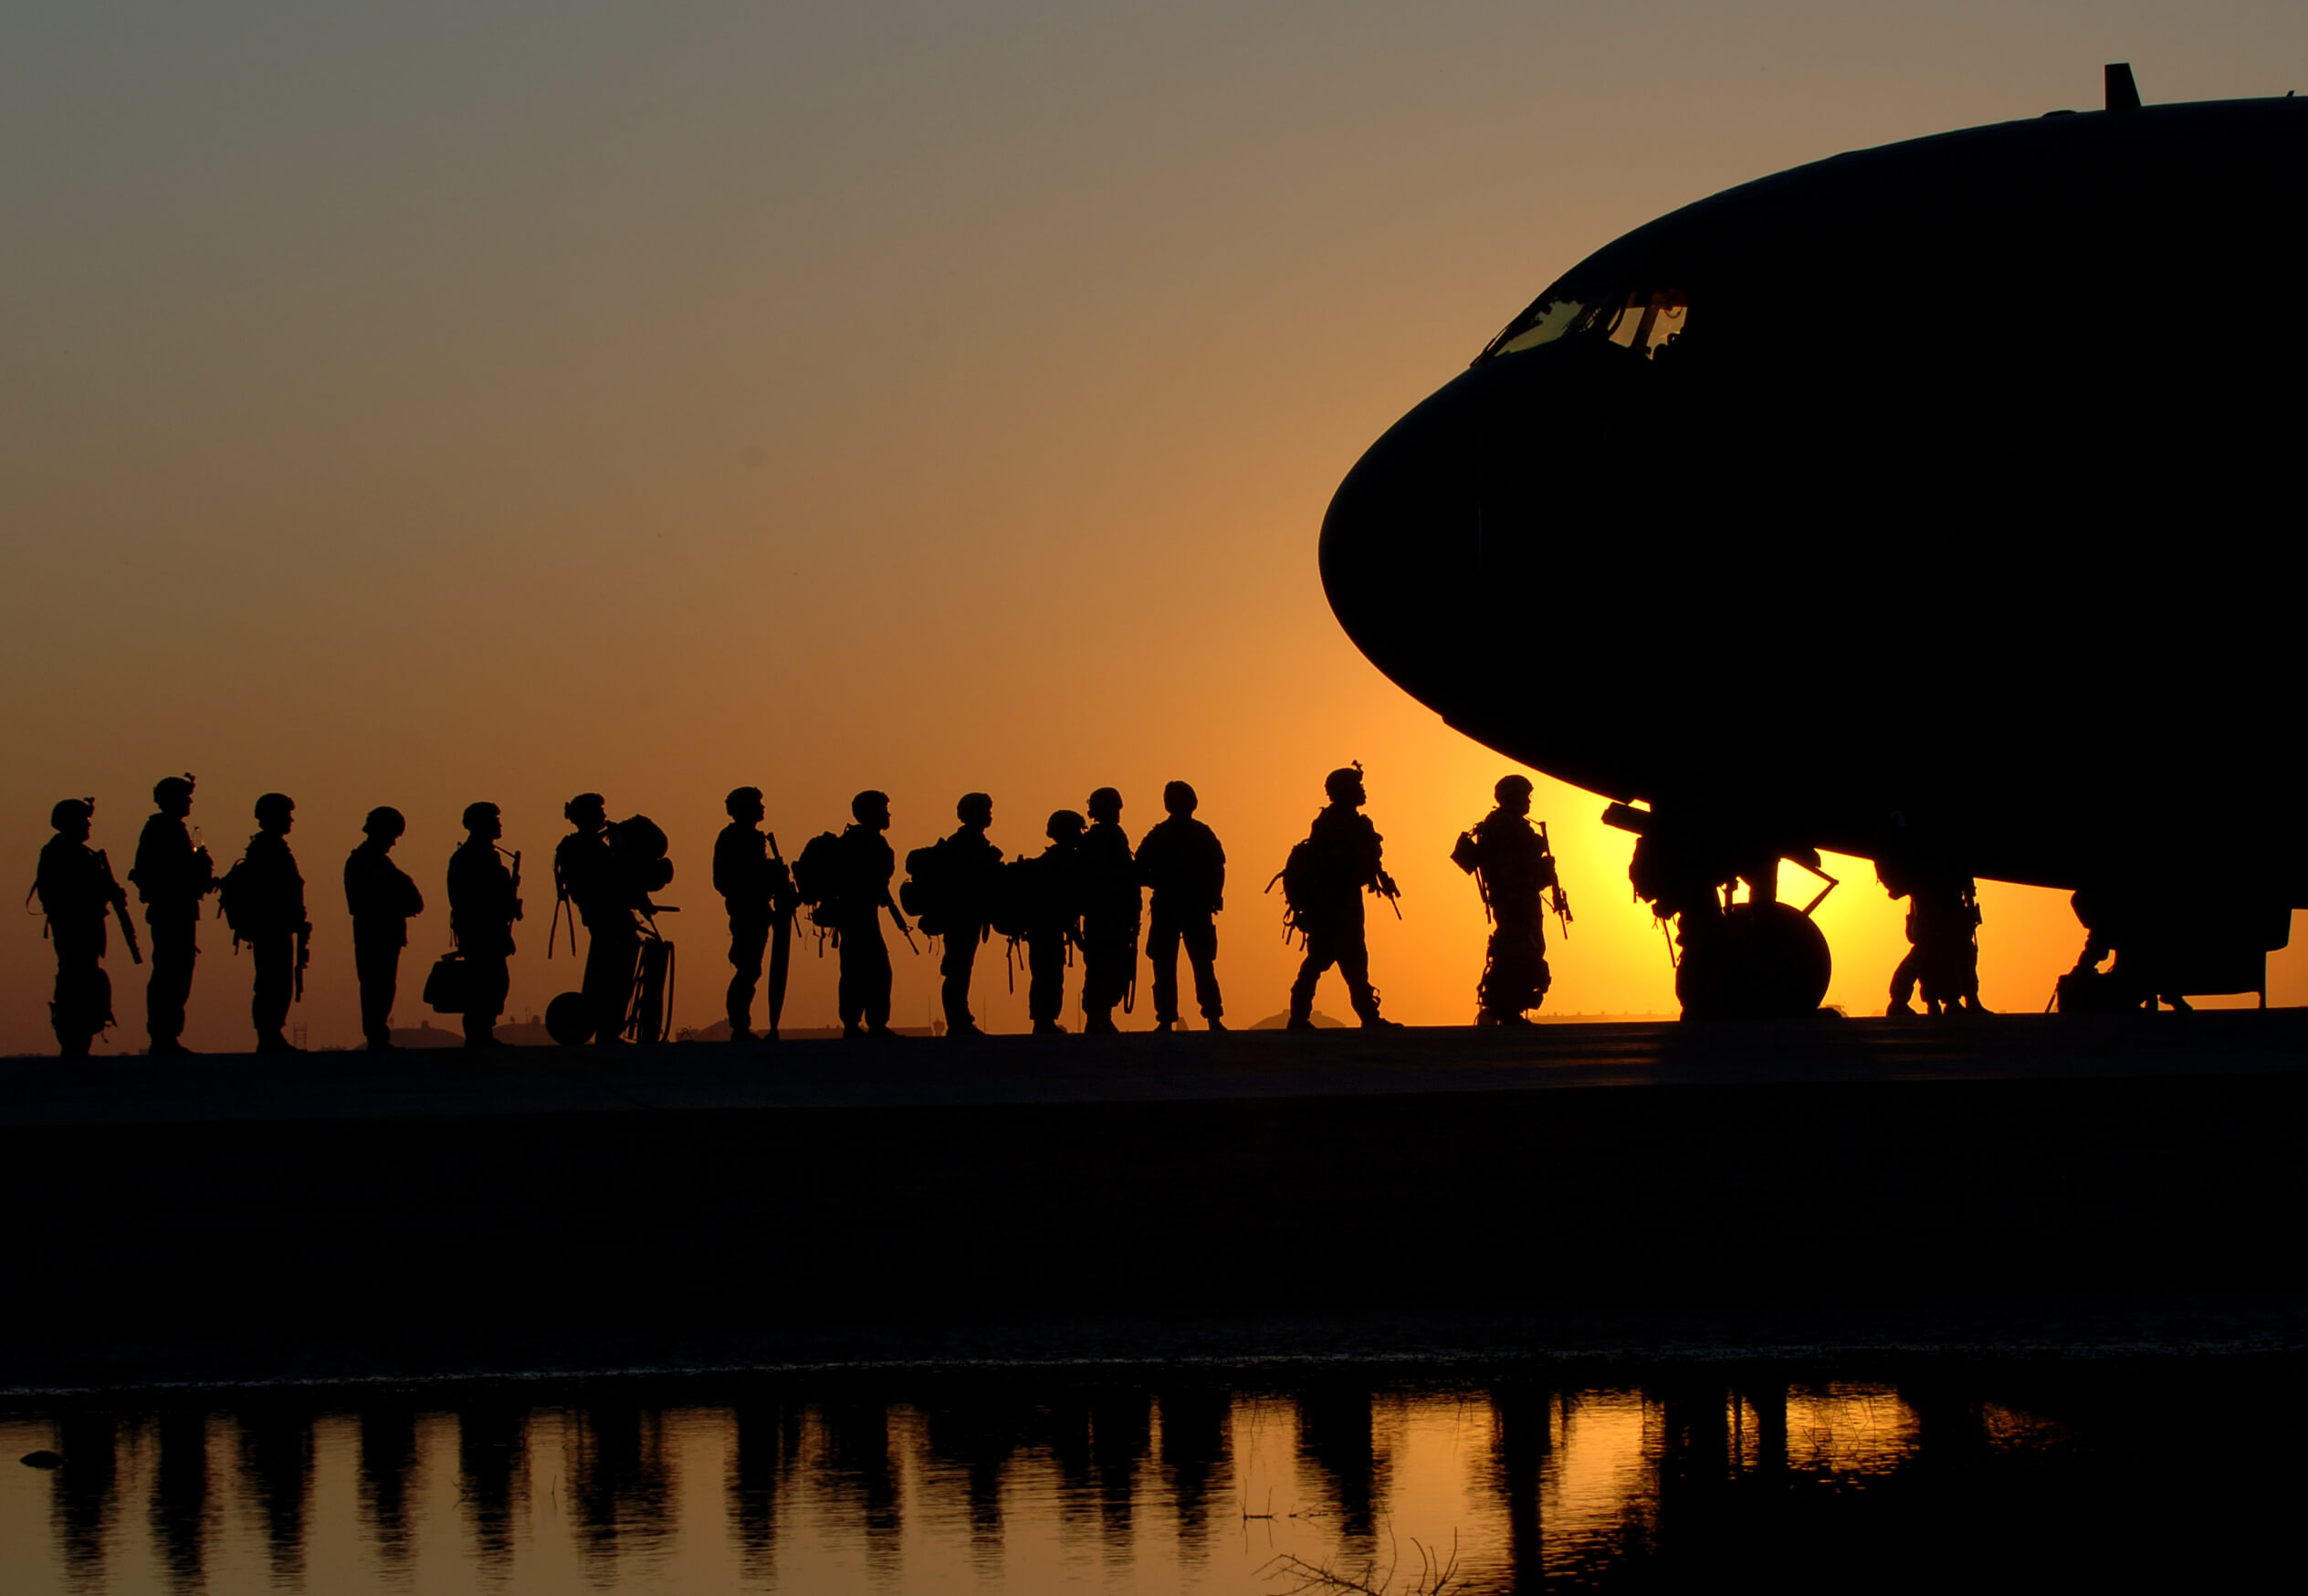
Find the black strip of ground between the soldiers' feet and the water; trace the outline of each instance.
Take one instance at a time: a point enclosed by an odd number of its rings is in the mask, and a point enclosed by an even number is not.
[[[2308,1344],[2308,1012],[0,1060],[0,1388]]]

